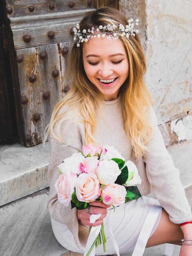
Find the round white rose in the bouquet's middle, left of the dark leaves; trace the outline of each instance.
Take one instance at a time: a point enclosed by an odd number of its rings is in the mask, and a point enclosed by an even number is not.
[[[103,160],[97,167],[97,177],[100,184],[103,185],[114,183],[120,174],[118,164],[113,160]]]

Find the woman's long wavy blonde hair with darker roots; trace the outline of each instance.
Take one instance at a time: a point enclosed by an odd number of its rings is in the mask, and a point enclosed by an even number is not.
[[[99,25],[119,25],[127,24],[127,18],[118,10],[111,7],[101,7],[92,13],[87,14],[80,21],[80,29],[98,28]],[[152,127],[149,122],[150,107],[152,98],[148,92],[143,76],[146,71],[145,56],[140,40],[136,36],[119,37],[125,46],[129,60],[129,76],[120,88],[118,97],[121,98],[125,132],[129,137],[133,154],[135,157],[142,157],[145,151],[149,151],[146,144],[152,136]],[[45,129],[44,142],[49,135],[52,135],[60,143],[64,134],[60,133],[60,125],[69,119],[66,114],[69,108],[73,108],[77,116],[81,117],[85,124],[85,144],[101,143],[94,137],[96,129],[96,114],[102,115],[103,97],[100,91],[92,84],[85,73],[83,67],[83,44],[80,47],[73,45],[69,57],[67,69],[65,71],[65,81],[71,84],[71,89],[65,94],[55,106],[51,120]],[[64,106],[69,106],[68,110],[60,112]],[[78,112],[76,111],[78,106]],[[74,117],[71,119],[74,120]],[[57,132],[54,127],[57,126]]]

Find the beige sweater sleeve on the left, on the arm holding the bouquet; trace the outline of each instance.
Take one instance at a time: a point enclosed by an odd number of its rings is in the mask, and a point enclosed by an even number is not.
[[[50,191],[47,208],[50,216],[54,220],[67,225],[68,229],[74,235],[76,245],[79,249],[83,249],[86,244],[88,231],[84,226],[78,225],[77,209],[71,209],[71,204],[69,204],[68,207],[65,207],[58,201],[57,191],[55,189],[55,182],[60,175],[58,165],[73,153],[78,153],[78,150],[81,150],[83,145],[80,129],[75,124],[62,124],[63,129],[66,127],[67,129],[65,130],[65,136],[62,144],[59,143],[52,135],[49,136],[50,159],[48,178]]]

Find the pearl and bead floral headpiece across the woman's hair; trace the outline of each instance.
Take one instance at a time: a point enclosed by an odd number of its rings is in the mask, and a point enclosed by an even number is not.
[[[90,38],[105,38],[107,35],[107,39],[113,39],[117,40],[118,33],[120,33],[120,36],[126,36],[126,38],[129,38],[129,36],[135,36],[135,34],[138,33],[138,29],[134,29],[134,25],[138,26],[139,20],[136,19],[135,22],[133,22],[133,19],[128,20],[128,25],[125,27],[122,24],[117,25],[110,25],[102,26],[99,25],[99,28],[95,29],[92,27],[92,29],[83,29],[83,31],[80,31],[79,24],[76,24],[76,27],[73,28],[74,31],[74,41],[77,41],[77,47],[80,47],[80,43],[87,42]]]

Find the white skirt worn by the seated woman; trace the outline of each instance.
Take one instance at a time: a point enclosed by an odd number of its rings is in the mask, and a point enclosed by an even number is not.
[[[147,240],[159,225],[161,210],[157,200],[145,196],[122,204],[115,211],[113,209],[108,210],[107,216],[109,216],[120,254],[134,251],[136,256],[143,255]],[[104,253],[103,246],[100,245],[96,247],[95,255],[116,254],[112,239],[105,227],[105,219],[103,223],[107,238],[107,252]],[[84,254],[84,251],[76,246],[73,234],[66,225],[55,221],[53,218],[51,218],[51,225],[56,239],[63,247],[69,251]]]

